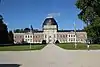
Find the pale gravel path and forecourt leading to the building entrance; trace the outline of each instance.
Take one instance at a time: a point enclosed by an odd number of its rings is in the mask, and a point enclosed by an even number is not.
[[[100,50],[64,50],[54,44],[37,51],[0,52],[0,64],[20,65],[12,67],[100,67],[99,62]]]

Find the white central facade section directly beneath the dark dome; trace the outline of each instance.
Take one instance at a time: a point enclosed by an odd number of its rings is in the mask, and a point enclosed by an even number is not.
[[[44,25],[44,40],[47,43],[55,43],[57,40],[57,26],[56,25]]]

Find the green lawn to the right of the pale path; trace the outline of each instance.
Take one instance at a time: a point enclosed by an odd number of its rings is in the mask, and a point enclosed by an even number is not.
[[[74,44],[57,44],[59,47],[67,49],[67,50],[86,50],[86,44],[77,44],[77,48],[75,48]],[[100,50],[100,44],[91,44],[90,50]]]

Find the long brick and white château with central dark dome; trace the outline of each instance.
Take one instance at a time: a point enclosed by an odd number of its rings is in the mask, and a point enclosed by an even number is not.
[[[76,34],[76,35],[75,35]],[[86,43],[87,33],[83,30],[59,30],[58,24],[53,17],[47,17],[42,24],[42,31],[30,31],[27,33],[14,33],[14,43],[60,43],[79,42]]]

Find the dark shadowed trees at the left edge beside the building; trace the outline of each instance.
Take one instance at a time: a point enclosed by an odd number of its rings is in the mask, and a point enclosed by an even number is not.
[[[3,17],[0,15],[0,45],[13,44],[13,32],[7,29],[7,25],[3,22]]]

